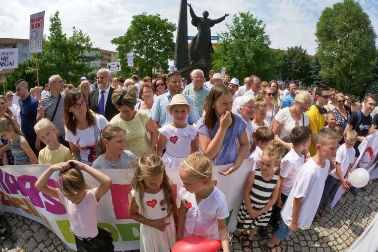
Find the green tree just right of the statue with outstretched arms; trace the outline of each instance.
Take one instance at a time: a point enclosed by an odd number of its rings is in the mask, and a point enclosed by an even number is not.
[[[269,48],[266,25],[250,12],[234,14],[229,31],[221,32],[220,45],[215,49],[213,69],[225,67],[232,77],[242,80],[257,75],[262,80],[274,79],[276,54]]]

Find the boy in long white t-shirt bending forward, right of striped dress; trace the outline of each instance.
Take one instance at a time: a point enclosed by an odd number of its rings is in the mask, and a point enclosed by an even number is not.
[[[280,241],[289,237],[298,227],[310,227],[322,199],[332,157],[336,156],[338,136],[330,129],[318,131],[315,139],[317,154],[299,170],[293,188],[282,208],[282,223],[272,238],[266,243],[270,251],[282,251]]]

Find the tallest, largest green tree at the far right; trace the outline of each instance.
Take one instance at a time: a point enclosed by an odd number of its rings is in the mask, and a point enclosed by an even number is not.
[[[372,79],[376,34],[359,3],[344,0],[326,8],[317,23],[317,56],[323,80],[360,95]]]

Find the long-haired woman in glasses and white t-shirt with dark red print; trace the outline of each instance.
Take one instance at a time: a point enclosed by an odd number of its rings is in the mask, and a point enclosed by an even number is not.
[[[66,141],[70,144],[72,156],[92,165],[99,155],[100,132],[109,122],[89,109],[85,94],[78,89],[67,91],[63,106]]]

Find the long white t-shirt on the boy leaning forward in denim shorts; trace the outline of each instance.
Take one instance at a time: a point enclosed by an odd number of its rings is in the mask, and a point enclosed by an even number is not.
[[[330,171],[330,161],[324,168],[319,167],[312,158],[300,167],[293,188],[281,211],[282,220],[290,225],[293,216],[294,198],[302,198],[298,216],[298,227],[311,226],[322,199],[324,184]]]

